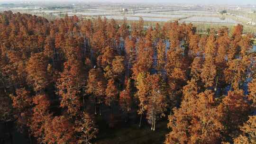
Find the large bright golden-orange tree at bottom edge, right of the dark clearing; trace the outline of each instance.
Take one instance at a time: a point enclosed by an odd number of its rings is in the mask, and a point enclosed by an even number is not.
[[[192,119],[192,143],[201,142],[201,144],[215,144],[219,142],[220,131],[223,129],[221,123],[221,113],[214,107],[213,93],[206,90],[199,94],[199,102],[193,110],[195,119]],[[199,121],[199,122],[197,122]]]

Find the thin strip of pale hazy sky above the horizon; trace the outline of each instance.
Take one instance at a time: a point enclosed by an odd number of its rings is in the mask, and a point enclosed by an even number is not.
[[[256,0],[0,0],[0,3],[4,2],[21,2],[21,1],[40,1],[40,2],[49,2],[49,1],[56,1],[56,2],[75,2],[75,1],[110,1],[110,2],[150,2],[150,3],[188,3],[188,4],[256,4]]]

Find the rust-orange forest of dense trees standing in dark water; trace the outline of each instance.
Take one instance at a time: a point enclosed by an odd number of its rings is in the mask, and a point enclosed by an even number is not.
[[[243,26],[196,33],[76,16],[0,13],[0,121],[30,144],[97,144],[135,115],[164,144],[256,144],[256,54]],[[107,111],[107,112],[106,112]]]

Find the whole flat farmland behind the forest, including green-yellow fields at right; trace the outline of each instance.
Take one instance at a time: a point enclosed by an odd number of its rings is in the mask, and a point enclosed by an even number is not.
[[[137,22],[143,18],[145,26],[153,27],[156,23],[177,20],[180,23],[193,23],[201,32],[209,28],[218,29],[222,26],[233,27],[236,24],[243,24],[244,33],[255,32],[256,26],[247,25],[248,21],[256,20],[256,14],[253,13],[255,7],[241,6],[240,10],[237,7],[188,4],[67,3],[62,6],[58,4],[16,4],[9,7],[2,6],[0,11],[29,13],[48,19],[63,18],[66,14],[80,18],[106,17],[117,21],[126,18],[128,22]],[[223,9],[227,9],[228,13],[221,15],[219,11]]]

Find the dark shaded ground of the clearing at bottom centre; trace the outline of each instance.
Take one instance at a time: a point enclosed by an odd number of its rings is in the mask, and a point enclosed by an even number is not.
[[[168,133],[167,120],[158,122],[155,131],[150,130],[150,125],[144,122],[141,128],[138,124],[119,124],[109,128],[103,120],[98,121],[99,135],[95,144],[163,144]]]

